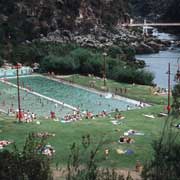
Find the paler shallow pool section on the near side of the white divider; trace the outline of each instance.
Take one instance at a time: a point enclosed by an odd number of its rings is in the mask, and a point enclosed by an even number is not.
[[[55,103],[44,98],[35,96],[25,91],[20,91],[21,109],[30,111],[38,116],[50,116],[50,111],[54,111],[58,117],[63,117],[72,110],[64,106],[55,106]],[[0,83],[0,109],[8,112],[12,108],[14,111],[18,109],[17,104],[17,88],[7,84]]]

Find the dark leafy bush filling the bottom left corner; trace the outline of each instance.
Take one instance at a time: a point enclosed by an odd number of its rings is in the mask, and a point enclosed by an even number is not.
[[[35,139],[33,134],[27,138],[24,148],[19,151],[14,144],[13,151],[0,152],[0,179],[3,180],[50,180],[50,159],[41,154],[44,139]]]

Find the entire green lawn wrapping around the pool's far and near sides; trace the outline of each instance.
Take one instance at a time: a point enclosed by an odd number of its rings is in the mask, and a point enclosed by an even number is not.
[[[80,75],[73,75],[65,78],[65,80],[71,80],[83,86],[89,86],[89,82],[94,81],[92,77]],[[101,89],[103,81],[97,79],[95,81],[95,88]],[[107,86],[111,92],[114,92],[115,88],[127,88],[127,93],[123,93],[123,96],[148,102],[154,104],[154,106],[122,112],[125,119],[122,120],[121,125],[113,125],[111,117],[96,118],[94,120],[83,119],[82,121],[68,124],[45,119],[39,119],[41,122],[40,125],[37,125],[35,122],[18,124],[13,117],[1,114],[0,140],[14,141],[19,148],[22,148],[29,133],[55,133],[55,137],[47,139],[47,143],[54,146],[56,150],[53,165],[59,164],[60,166],[65,166],[68,155],[70,154],[70,146],[74,142],[80,145],[82,136],[89,134],[92,138],[91,148],[95,148],[102,139],[105,142],[97,155],[100,167],[134,168],[137,160],[143,163],[153,157],[152,142],[160,137],[166,119],[164,117],[158,117],[157,114],[163,111],[164,105],[167,104],[167,97],[152,95],[149,86],[117,83],[113,80],[108,80]],[[143,114],[153,114],[155,118],[148,118],[143,116]],[[135,140],[133,144],[119,144],[119,137],[129,129],[140,131],[144,133],[144,136],[133,136],[132,138]],[[11,147],[10,145],[7,148],[11,149]],[[104,150],[106,148],[110,150],[107,160],[104,157]],[[116,152],[117,149],[131,149],[135,153],[133,155],[119,155]],[[83,159],[87,159],[85,152],[81,156]]]

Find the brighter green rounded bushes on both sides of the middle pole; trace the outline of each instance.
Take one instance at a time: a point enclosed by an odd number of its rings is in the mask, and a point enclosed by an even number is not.
[[[126,49],[129,51],[129,49]],[[130,53],[129,58],[133,56]],[[111,56],[121,53],[121,49],[113,47],[110,49]],[[132,58],[132,57],[131,57]],[[152,85],[154,76],[150,72],[138,70],[143,67],[142,62],[129,60],[127,62],[120,59],[105,57],[107,77],[119,82],[137,83]],[[102,76],[104,71],[104,57],[98,53],[94,54],[88,49],[75,48],[69,52],[69,55],[57,57],[54,55],[46,56],[41,61],[41,69],[43,72],[53,71],[58,74],[94,74]],[[133,66],[132,66],[133,65]]]

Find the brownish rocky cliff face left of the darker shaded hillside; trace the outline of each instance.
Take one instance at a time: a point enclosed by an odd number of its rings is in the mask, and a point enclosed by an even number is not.
[[[1,40],[37,38],[57,29],[88,30],[124,21],[125,0],[1,0]]]

